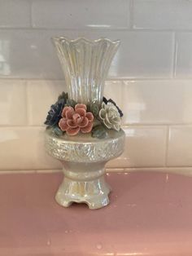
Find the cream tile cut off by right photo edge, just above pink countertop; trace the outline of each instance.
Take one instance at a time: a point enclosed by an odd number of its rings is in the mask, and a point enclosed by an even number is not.
[[[171,126],[168,166],[192,166],[192,126]]]

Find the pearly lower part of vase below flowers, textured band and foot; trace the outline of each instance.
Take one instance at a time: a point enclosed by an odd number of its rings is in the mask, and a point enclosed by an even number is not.
[[[45,143],[50,156],[63,164],[64,179],[55,196],[59,205],[68,207],[76,202],[98,209],[109,204],[111,188],[105,181],[105,164],[123,152],[123,130],[110,130],[106,139],[90,135],[58,138],[46,130]]]

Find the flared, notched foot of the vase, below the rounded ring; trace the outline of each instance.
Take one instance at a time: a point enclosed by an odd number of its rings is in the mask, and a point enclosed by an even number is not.
[[[98,174],[99,172],[101,171],[98,170]],[[85,203],[89,209],[95,210],[109,204],[108,195],[110,192],[111,188],[105,182],[104,174],[98,179],[87,181],[76,181],[65,177],[55,200],[64,207],[76,202]]]

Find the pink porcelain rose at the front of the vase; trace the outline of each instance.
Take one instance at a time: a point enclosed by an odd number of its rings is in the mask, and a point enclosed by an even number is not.
[[[79,131],[86,134],[93,128],[94,115],[86,112],[85,104],[76,104],[75,109],[64,107],[62,117],[59,121],[61,130],[66,131],[68,135],[77,135]]]

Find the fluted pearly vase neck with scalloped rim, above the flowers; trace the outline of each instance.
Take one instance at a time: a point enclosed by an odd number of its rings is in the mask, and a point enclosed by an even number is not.
[[[53,38],[63,68],[68,97],[77,103],[103,100],[104,83],[120,41]]]

